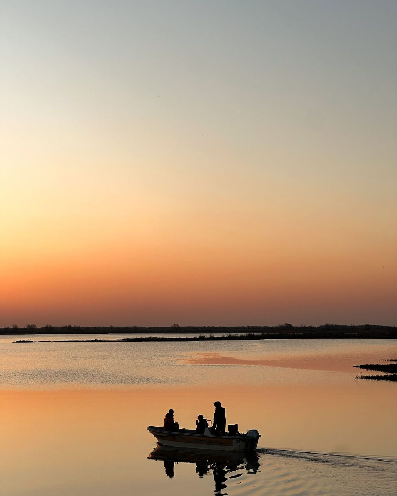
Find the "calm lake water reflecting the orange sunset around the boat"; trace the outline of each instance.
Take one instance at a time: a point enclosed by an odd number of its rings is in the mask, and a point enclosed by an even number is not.
[[[1,496],[397,494],[397,384],[353,368],[396,341],[18,338],[0,338]],[[216,400],[255,454],[152,453],[148,425],[173,408],[194,428]]]

